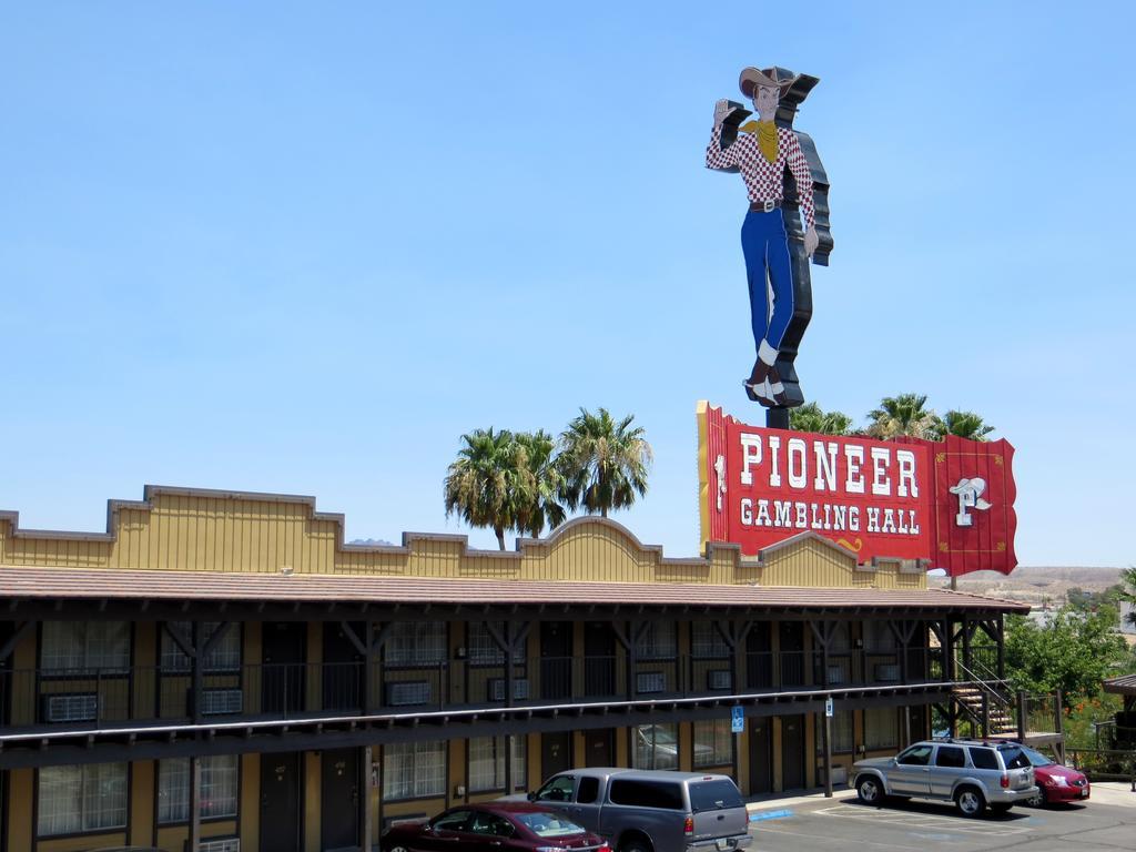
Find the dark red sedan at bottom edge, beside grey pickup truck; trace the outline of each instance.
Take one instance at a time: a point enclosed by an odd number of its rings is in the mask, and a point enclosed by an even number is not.
[[[403,822],[383,852],[611,852],[599,836],[531,802],[461,804],[426,822]]]

